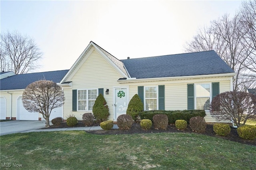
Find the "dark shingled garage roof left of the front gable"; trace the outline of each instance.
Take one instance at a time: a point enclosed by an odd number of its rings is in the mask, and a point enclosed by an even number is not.
[[[50,80],[60,83],[68,70],[47,71],[40,73],[17,74],[1,79],[0,90],[25,89],[27,85],[38,80]]]

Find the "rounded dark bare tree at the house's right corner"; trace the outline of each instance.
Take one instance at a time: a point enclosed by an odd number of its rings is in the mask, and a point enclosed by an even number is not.
[[[240,127],[248,119],[256,120],[256,96],[244,91],[220,93],[212,99],[210,114],[218,121],[233,121]]]

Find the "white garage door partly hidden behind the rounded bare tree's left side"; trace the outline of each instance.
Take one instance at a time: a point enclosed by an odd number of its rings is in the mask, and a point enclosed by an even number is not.
[[[17,120],[38,121],[38,113],[28,112],[22,104],[22,97],[17,99]]]

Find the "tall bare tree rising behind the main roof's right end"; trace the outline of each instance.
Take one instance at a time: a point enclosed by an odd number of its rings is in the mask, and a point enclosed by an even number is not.
[[[255,25],[254,25],[255,26]],[[255,86],[255,56],[246,48],[244,24],[241,14],[234,17],[227,14],[213,20],[209,27],[199,29],[191,42],[187,42],[187,52],[214,50],[236,72],[234,90],[244,90],[246,85]],[[251,44],[251,43],[250,43]]]

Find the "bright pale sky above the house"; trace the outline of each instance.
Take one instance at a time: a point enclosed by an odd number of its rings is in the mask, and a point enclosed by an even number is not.
[[[90,41],[117,59],[184,53],[198,28],[224,14],[235,1],[192,0],[0,0],[0,32],[17,30],[43,52],[40,68],[70,69]]]

